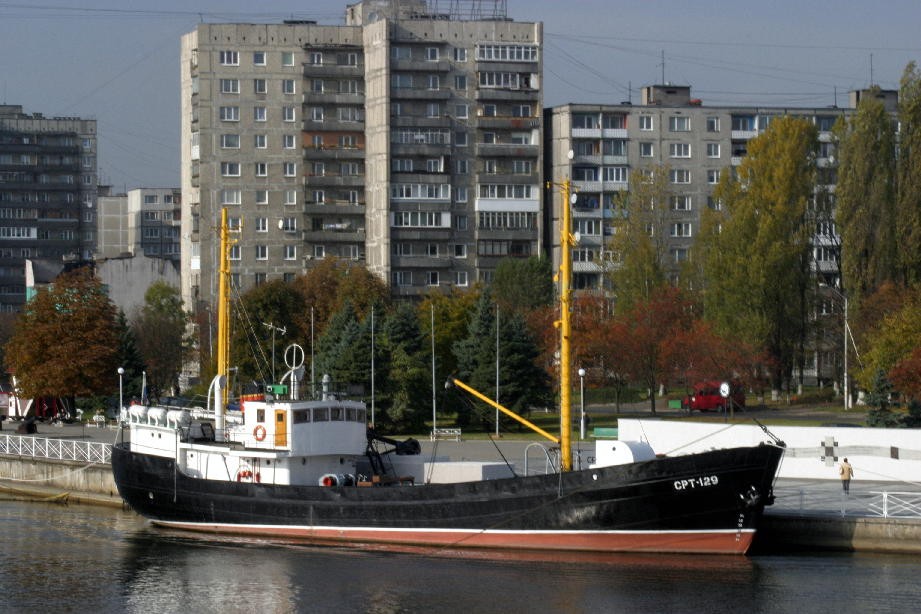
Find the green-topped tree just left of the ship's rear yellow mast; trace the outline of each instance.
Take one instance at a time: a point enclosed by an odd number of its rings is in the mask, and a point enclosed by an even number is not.
[[[159,399],[179,383],[179,373],[189,356],[191,316],[182,309],[179,289],[156,281],[144,293],[144,305],[132,319],[138,350],[147,365],[148,394]]]

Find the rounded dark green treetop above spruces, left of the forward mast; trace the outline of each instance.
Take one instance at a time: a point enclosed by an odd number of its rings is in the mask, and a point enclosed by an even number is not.
[[[503,258],[491,289],[500,311],[527,314],[553,303],[553,267],[547,258]]]

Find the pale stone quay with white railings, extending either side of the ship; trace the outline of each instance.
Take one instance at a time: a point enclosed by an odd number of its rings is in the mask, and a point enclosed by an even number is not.
[[[125,508],[108,457],[100,452],[116,440],[118,429],[39,428],[35,435],[0,431],[0,496]],[[527,441],[420,443],[423,455],[458,461],[496,459],[501,454],[517,471],[543,471],[549,462],[544,447]],[[588,446],[588,442],[574,444],[581,454],[589,453]],[[56,457],[68,454],[69,458]],[[850,494],[845,495],[837,479],[780,477],[774,494],[775,503],[765,510],[753,545],[754,554],[815,550],[921,553],[919,484],[861,480],[858,475],[851,482]]]

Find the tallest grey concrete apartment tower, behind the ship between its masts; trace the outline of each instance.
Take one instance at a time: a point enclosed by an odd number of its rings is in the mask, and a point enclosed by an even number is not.
[[[503,0],[442,4],[366,0],[342,26],[183,37],[190,305],[216,292],[222,207],[243,290],[335,256],[414,295],[540,253],[542,26]]]

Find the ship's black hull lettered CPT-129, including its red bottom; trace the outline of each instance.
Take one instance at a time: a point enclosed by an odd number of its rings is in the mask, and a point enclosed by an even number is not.
[[[156,524],[367,546],[744,553],[783,454],[714,450],[562,474],[423,486],[206,480],[116,445],[119,493]]]

